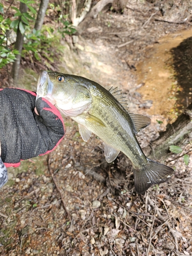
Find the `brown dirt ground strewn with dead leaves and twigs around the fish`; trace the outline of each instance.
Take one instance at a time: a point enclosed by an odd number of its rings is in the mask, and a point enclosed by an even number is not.
[[[131,112],[148,114],[154,102],[138,91],[147,83],[138,81],[137,67],[162,37],[191,29],[191,4],[135,0],[122,13],[104,8],[79,26],[78,41],[68,38],[59,70],[118,87]],[[163,110],[150,115],[152,124],[138,134],[141,147],[170,121]],[[102,141],[93,135],[84,142],[77,123],[64,120],[66,136],[54,152],[9,169],[0,191],[0,254],[192,255],[190,135],[181,154],[158,159],[174,167],[175,176],[137,195],[130,160],[120,153],[106,163]]]

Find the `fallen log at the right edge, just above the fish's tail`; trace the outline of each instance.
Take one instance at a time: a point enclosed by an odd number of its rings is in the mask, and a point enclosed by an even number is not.
[[[192,135],[192,103],[185,109],[177,120],[168,124],[165,132],[161,132],[159,138],[152,142],[151,146],[143,148],[149,158],[158,160],[166,158],[170,145],[179,145],[190,134]],[[153,150],[152,150],[153,149]]]

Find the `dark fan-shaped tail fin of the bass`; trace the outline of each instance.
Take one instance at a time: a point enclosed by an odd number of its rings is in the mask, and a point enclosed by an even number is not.
[[[142,168],[133,168],[135,190],[138,194],[144,193],[154,184],[160,184],[169,180],[175,170],[153,160],[147,159],[148,163]]]

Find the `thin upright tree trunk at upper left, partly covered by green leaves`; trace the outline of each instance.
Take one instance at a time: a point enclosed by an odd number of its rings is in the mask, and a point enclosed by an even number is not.
[[[22,13],[27,12],[27,5],[20,2],[19,10]],[[20,58],[21,58],[21,54],[22,54],[23,44],[24,44],[24,35],[22,35],[22,33],[20,33],[19,26],[18,26],[16,42],[15,42],[15,49],[19,51],[19,54],[17,54],[15,56],[16,59],[13,62],[13,67],[12,67],[12,71],[11,71],[11,76],[13,77],[14,83],[16,83],[17,79],[18,79],[18,72],[19,72],[19,67],[20,67]]]

